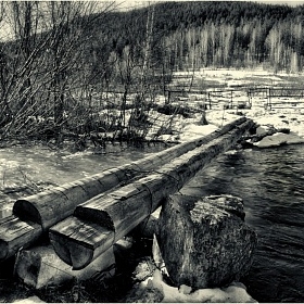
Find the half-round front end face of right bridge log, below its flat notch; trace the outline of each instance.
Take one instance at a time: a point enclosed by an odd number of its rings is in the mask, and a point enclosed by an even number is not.
[[[72,243],[68,240],[58,238],[55,233],[50,233],[51,244],[58,256],[67,265],[73,267],[73,270],[79,270],[88,266],[93,259],[92,248],[86,248]]]

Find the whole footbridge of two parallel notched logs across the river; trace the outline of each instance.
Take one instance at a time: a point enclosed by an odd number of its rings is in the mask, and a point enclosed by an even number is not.
[[[0,220],[0,261],[49,236],[62,261],[85,268],[253,124],[241,117],[202,138],[17,200],[13,215]]]

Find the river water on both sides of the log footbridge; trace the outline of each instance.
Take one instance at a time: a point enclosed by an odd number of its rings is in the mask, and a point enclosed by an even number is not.
[[[69,154],[43,147],[2,149],[0,199],[4,202],[17,198],[17,191],[8,189],[25,183],[61,185],[161,149],[114,147],[106,154]],[[303,162],[303,144],[230,151],[214,160],[182,189],[187,194],[229,193],[243,199],[245,221],[258,236],[254,263],[243,282],[258,302],[304,302]]]

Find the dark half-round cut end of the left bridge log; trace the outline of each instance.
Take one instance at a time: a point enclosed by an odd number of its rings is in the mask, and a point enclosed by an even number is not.
[[[22,220],[30,220],[42,225],[38,210],[27,200],[17,200],[13,206],[13,214]]]

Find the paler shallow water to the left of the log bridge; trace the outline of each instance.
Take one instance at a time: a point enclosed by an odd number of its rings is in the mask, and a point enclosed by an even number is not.
[[[73,154],[43,145],[0,149],[0,218],[1,207],[21,195],[101,173],[161,150],[164,150],[162,144],[140,149],[109,144],[102,153],[88,150]]]

